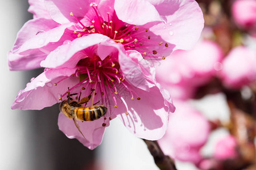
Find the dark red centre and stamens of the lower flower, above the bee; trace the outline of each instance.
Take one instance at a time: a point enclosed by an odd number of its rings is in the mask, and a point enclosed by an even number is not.
[[[60,96],[59,100],[62,100],[64,96],[68,96],[69,94],[75,94],[76,99],[80,97],[80,94],[84,96],[92,94],[91,105],[100,101],[100,104],[106,106],[114,105],[114,108],[117,108],[117,98],[119,98],[125,105],[127,110],[126,114],[128,115],[128,107],[121,92],[129,94],[131,100],[134,100],[134,96],[136,96],[138,100],[141,98],[130,88],[130,84],[126,82],[125,76],[119,68],[119,63],[114,61],[110,56],[106,57],[103,61],[98,56],[81,59],[79,63],[77,63],[77,70],[71,75],[79,78],[79,83],[73,87],[68,87],[68,90]],[[64,79],[67,78],[68,77]],[[55,86],[64,79],[54,83]],[[125,96],[127,96],[127,94]],[[111,113],[111,108],[109,108],[109,111]]]

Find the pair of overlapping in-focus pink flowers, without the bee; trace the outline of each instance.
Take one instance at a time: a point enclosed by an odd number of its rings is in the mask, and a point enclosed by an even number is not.
[[[94,121],[74,122],[59,114],[59,128],[86,147],[100,145],[110,120],[118,117],[137,137],[163,137],[169,93],[155,80],[154,62],[199,39],[203,15],[194,0],[30,0],[34,14],[9,52],[10,70],[44,67],[27,84],[12,109],[42,109],[91,95],[88,105],[108,108]],[[81,98],[80,98],[81,97]],[[36,100],[35,100],[36,99]],[[86,103],[87,104],[87,103]],[[84,106],[85,107],[85,106]]]

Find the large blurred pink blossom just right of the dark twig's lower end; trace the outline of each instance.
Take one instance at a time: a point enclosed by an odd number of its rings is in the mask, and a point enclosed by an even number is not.
[[[168,130],[159,145],[172,158],[198,163],[200,148],[207,142],[210,126],[205,117],[185,101],[176,101],[176,111],[170,115]]]

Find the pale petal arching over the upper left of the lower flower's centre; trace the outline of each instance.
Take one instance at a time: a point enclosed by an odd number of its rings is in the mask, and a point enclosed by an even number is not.
[[[109,37],[95,33],[89,36],[80,37],[75,39],[68,44],[59,46],[56,50],[52,51],[47,58],[41,62],[42,67],[58,68],[58,67],[68,67],[73,68],[77,65],[80,59],[85,58],[86,55],[90,56],[88,53],[94,52],[92,49],[86,49],[90,46],[97,45],[100,42],[109,40]],[[86,50],[84,50],[86,49]],[[96,49],[96,48],[95,48]],[[83,52],[80,52],[84,50]],[[79,52],[79,53],[78,53]],[[108,56],[106,53],[101,53],[102,55]],[[105,56],[105,57],[106,57]],[[103,58],[103,57],[102,57]]]

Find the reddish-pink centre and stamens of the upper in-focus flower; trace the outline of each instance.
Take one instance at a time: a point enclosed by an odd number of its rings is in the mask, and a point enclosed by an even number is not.
[[[115,42],[122,43],[126,50],[137,50],[142,54],[144,59],[165,59],[165,57],[159,53],[159,46],[163,46],[162,49],[164,49],[168,48],[168,44],[163,41],[159,42],[155,40],[154,37],[152,37],[155,35],[147,28],[136,27],[136,25],[124,23],[117,18],[115,12],[112,15],[112,20],[110,19],[109,12],[106,13],[108,20],[104,20],[98,13],[97,5],[91,4],[90,6],[95,12],[95,17],[90,21],[91,25],[87,27],[73,14],[73,12],[70,13],[70,15],[80,24],[79,27],[81,27],[81,29],[77,29],[73,32],[77,37],[92,33],[100,33],[110,37],[110,39]]]

